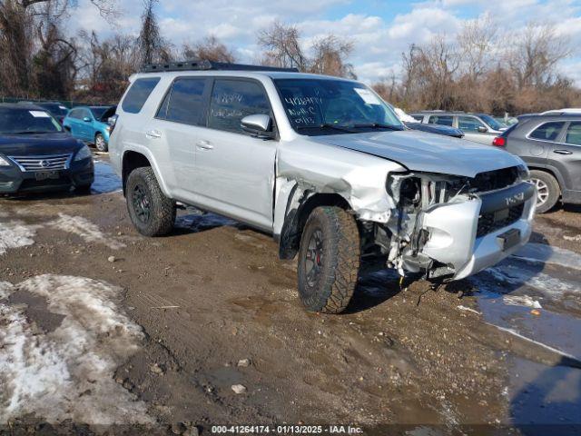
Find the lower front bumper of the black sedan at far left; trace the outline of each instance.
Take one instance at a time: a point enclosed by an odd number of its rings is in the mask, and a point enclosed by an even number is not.
[[[33,171],[24,172],[15,166],[0,168],[0,193],[43,193],[86,186],[94,181],[93,159],[74,162],[56,173],[58,178],[37,180]]]

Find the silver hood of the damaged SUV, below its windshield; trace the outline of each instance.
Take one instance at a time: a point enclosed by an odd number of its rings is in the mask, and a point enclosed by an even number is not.
[[[310,140],[373,154],[401,163],[411,171],[427,173],[474,177],[523,163],[517,156],[492,145],[414,131],[333,134],[311,136]]]

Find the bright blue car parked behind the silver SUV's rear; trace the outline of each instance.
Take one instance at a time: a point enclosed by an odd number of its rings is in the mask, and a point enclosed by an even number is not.
[[[116,106],[77,106],[64,117],[63,126],[74,138],[85,143],[94,144],[100,152],[109,149],[107,124],[109,117],[115,114]]]

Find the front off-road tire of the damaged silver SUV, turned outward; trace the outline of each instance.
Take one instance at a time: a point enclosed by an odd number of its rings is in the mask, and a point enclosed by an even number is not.
[[[317,231],[322,235],[322,259],[318,278],[310,284],[307,252]],[[359,229],[354,217],[339,207],[314,209],[302,231],[299,250],[299,295],[306,309],[310,312],[343,312],[355,292],[359,262]]]

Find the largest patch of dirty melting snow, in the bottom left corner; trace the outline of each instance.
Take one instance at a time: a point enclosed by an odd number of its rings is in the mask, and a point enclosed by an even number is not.
[[[37,328],[22,304],[0,302],[0,421],[34,413],[50,423],[153,423],[113,375],[143,341],[117,302],[121,289],[82,277],[41,275],[15,286],[62,315],[52,332]]]

